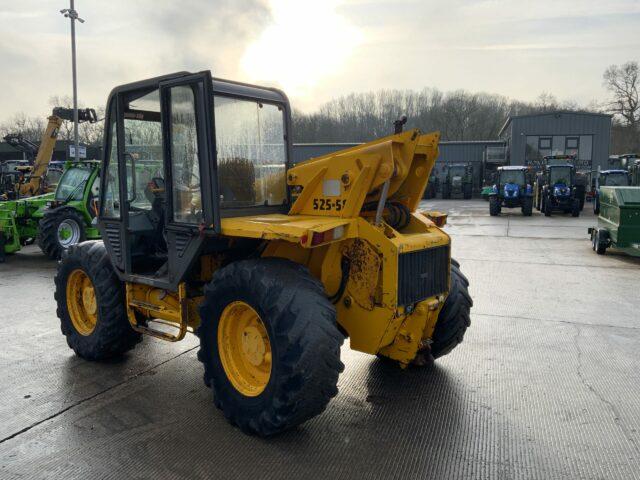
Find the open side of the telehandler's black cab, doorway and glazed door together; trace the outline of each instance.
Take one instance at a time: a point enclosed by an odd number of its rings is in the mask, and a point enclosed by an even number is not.
[[[118,87],[109,100],[100,230],[122,280],[176,290],[219,232],[210,72]]]

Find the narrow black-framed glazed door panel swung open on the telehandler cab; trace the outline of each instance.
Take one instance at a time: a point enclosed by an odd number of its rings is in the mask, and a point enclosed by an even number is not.
[[[208,71],[160,83],[167,280],[173,287],[197,258],[204,231],[220,231],[212,88]]]

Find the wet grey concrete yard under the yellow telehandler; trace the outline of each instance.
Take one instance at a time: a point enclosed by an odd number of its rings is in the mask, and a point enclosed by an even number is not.
[[[591,250],[580,218],[476,200],[450,213],[472,325],[400,371],[343,348],[325,413],[271,439],[212,403],[196,339],[74,356],[37,247],[0,265],[0,478],[640,478],[640,259]]]

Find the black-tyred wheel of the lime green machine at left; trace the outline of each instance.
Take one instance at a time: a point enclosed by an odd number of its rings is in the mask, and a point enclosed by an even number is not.
[[[86,238],[84,218],[72,208],[50,210],[40,220],[38,246],[52,260]]]

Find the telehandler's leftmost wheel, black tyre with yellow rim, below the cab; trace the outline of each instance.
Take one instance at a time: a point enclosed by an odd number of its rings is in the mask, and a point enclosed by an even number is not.
[[[106,360],[142,340],[129,324],[122,283],[101,241],[71,246],[58,265],[55,285],[60,328],[78,356]]]

